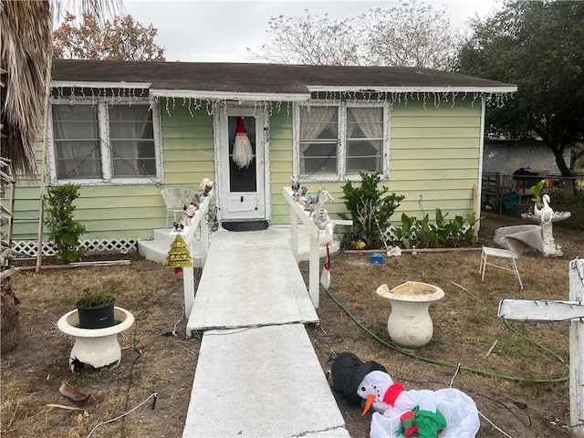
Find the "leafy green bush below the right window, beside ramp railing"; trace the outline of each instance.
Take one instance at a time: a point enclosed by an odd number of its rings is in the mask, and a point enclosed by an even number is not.
[[[391,215],[400,206],[404,196],[388,193],[389,188],[378,187],[379,173],[360,173],[360,187],[353,187],[349,181],[341,187],[341,197],[349,214],[339,214],[343,219],[353,221],[352,233],[347,238],[352,242],[364,242],[369,248],[379,248],[383,242],[382,233],[390,224]]]

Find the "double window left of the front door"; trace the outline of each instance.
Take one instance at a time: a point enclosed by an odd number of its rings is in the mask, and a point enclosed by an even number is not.
[[[158,182],[153,113],[147,102],[53,105],[53,178],[79,183]]]

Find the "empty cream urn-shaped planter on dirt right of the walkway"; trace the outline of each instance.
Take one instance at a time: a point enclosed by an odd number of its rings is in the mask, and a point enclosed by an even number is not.
[[[377,294],[390,300],[391,312],[387,319],[387,331],[393,342],[400,347],[412,349],[430,342],[433,322],[428,310],[433,301],[444,296],[440,287],[408,281],[391,290],[387,285],[381,285],[377,288]]]

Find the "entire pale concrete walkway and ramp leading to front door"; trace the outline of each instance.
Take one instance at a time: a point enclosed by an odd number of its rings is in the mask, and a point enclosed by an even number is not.
[[[214,234],[187,329],[203,331],[183,438],[347,438],[305,322],[289,238]]]

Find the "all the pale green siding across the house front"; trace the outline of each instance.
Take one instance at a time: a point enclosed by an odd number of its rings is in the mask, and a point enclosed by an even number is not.
[[[178,101],[178,100],[177,100]],[[204,102],[200,110],[166,104],[160,99],[162,137],[162,185],[82,186],[76,201],[76,217],[86,225],[83,239],[152,237],[152,230],[165,224],[166,209],[160,194],[166,187],[199,189],[203,178],[215,181],[214,121]],[[293,118],[287,108],[273,110],[270,127],[270,199],[272,224],[289,223],[289,207],[282,187],[290,184],[293,174]],[[441,208],[448,217],[474,212],[474,184],[479,181],[481,146],[481,104],[458,99],[437,108],[427,102],[409,100],[395,104],[389,125],[390,193],[405,199],[393,216],[401,213],[430,214]],[[37,151],[40,168],[39,141]],[[302,182],[309,194],[326,186],[335,199],[327,204],[328,214],[339,217],[345,210],[341,186],[344,183]],[[359,182],[354,184],[358,185]],[[9,192],[7,192],[9,193]],[[19,183],[16,189],[15,240],[36,240],[39,184]],[[8,194],[9,196],[9,194]],[[4,202],[7,202],[8,196]],[[45,238],[44,240],[47,240]]]

